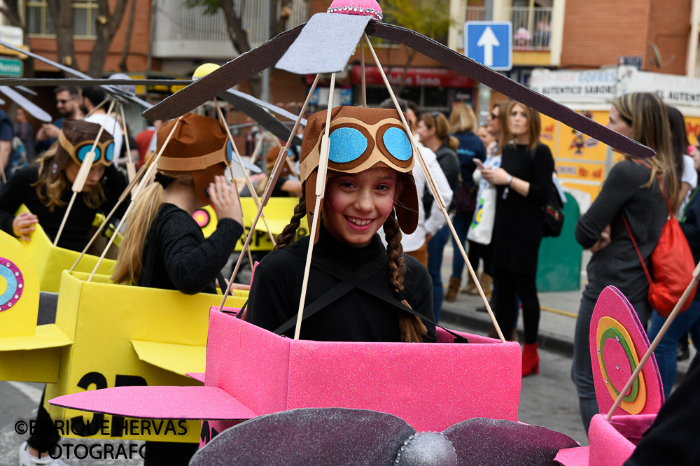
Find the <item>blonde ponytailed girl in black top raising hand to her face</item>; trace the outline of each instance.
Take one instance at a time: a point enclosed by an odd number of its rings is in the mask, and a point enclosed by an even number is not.
[[[112,279],[190,295],[216,292],[214,280],[243,233],[238,197],[223,176],[232,160],[232,146],[220,122],[187,113],[158,129],[159,151],[174,125],[172,139],[158,160],[155,182],[139,195],[127,217]],[[204,239],[192,215],[209,204],[216,209],[218,225]],[[150,456],[144,466],[187,465],[198,445],[146,442],[146,446]]]

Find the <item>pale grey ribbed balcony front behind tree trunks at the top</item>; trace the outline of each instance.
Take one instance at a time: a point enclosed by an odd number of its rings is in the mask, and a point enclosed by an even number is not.
[[[267,1],[234,0],[238,15],[243,10],[243,29],[248,31],[251,48],[267,40]],[[186,8],[185,0],[156,0],[153,3],[152,55],[155,58],[232,59],[237,55],[227,32],[221,10],[204,14],[204,7]],[[279,13],[278,13],[279,17]],[[295,27],[309,18],[307,0],[293,0],[287,27]]]

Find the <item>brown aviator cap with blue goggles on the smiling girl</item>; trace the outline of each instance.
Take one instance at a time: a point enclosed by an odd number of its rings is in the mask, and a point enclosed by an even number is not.
[[[309,226],[316,205],[316,178],[325,120],[326,111],[311,115],[302,140],[299,169],[306,192]],[[418,193],[412,174],[413,148],[398,112],[385,108],[332,108],[329,138],[326,182],[338,173],[359,173],[377,164],[397,171],[396,216],[403,232],[414,232],[418,226]]]

